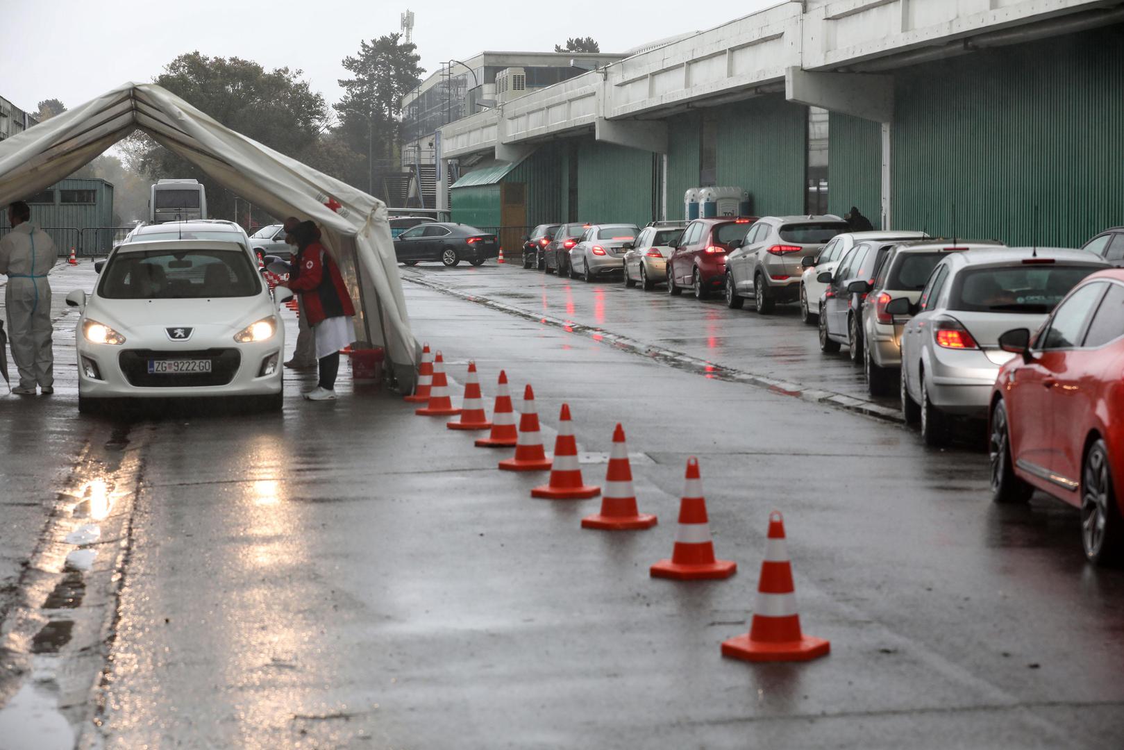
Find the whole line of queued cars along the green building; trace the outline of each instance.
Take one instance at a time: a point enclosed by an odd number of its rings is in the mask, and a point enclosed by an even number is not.
[[[720,292],[761,315],[797,304],[821,350],[846,347],[872,396],[897,391],[928,445],[986,419],[996,501],[1042,490],[1080,509],[1090,561],[1124,558],[1124,227],[1071,250],[850,232],[831,215],[544,224],[523,266]]]

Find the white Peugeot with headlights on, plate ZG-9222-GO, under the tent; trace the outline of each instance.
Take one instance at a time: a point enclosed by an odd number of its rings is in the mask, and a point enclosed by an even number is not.
[[[130,242],[99,263],[78,307],[79,410],[109,398],[251,397],[281,407],[284,326],[246,247],[234,242]]]

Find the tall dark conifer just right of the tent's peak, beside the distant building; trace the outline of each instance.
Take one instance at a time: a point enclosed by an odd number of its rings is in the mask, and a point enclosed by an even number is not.
[[[417,45],[402,44],[401,38],[388,34],[361,42],[359,54],[343,60],[353,78],[339,81],[344,96],[334,106],[339,114],[336,133],[347,148],[368,156],[364,169],[346,178],[361,190],[370,184],[373,191],[383,173],[401,171],[396,159],[401,100],[425,72],[418,65]]]

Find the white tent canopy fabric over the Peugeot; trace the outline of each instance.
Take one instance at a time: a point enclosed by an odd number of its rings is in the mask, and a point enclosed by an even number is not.
[[[384,346],[399,387],[419,358],[386,205],[247,138],[154,83],[126,83],[0,142],[0,205],[26,199],[134,130],[277,217],[309,218],[356,304],[355,338]]]

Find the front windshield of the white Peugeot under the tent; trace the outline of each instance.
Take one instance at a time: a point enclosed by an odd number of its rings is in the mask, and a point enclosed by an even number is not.
[[[106,299],[252,297],[261,280],[237,250],[148,250],[115,254],[101,272]]]

